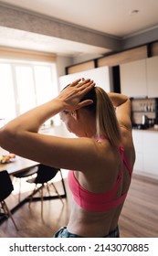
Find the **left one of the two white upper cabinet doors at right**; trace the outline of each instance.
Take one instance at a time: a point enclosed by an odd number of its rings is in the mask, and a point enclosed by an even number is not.
[[[146,60],[141,59],[121,64],[121,93],[129,97],[147,95]]]

